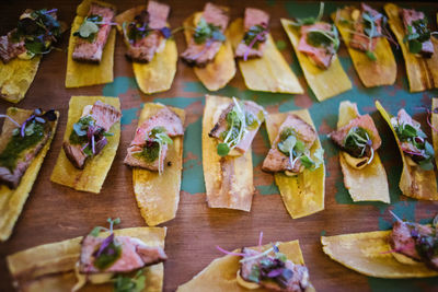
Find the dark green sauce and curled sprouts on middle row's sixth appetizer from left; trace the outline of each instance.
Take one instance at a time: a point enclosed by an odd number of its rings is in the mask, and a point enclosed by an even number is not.
[[[367,164],[372,162],[374,150],[372,140],[367,130],[361,127],[351,127],[344,139],[344,150],[354,157],[368,156]]]

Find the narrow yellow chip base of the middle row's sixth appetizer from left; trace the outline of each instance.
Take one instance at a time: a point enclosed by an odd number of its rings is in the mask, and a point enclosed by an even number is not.
[[[357,105],[349,101],[339,104],[339,117],[337,128],[342,128],[351,119],[359,116]],[[379,153],[369,165],[362,170],[351,167],[344,157],[344,151],[339,151],[339,163],[344,174],[344,185],[348,189],[354,201],[382,201],[390,202],[387,172],[380,161]]]

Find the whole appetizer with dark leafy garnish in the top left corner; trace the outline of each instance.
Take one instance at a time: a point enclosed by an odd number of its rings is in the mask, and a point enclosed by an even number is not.
[[[42,55],[54,48],[64,31],[57,11],[26,9],[16,28],[0,36],[0,97],[11,103],[24,98]]]

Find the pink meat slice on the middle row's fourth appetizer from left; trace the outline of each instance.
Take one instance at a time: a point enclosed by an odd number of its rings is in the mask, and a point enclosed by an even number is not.
[[[244,105],[244,110],[253,114],[255,117],[260,117],[261,112],[262,113],[264,112],[264,108],[262,106],[251,101],[245,101],[243,105]],[[227,115],[233,109],[233,107],[234,103],[231,103],[226,109],[223,109],[215,127],[208,133],[209,137],[221,140],[220,138],[221,133],[228,129]],[[258,128],[262,125],[262,122],[263,120],[260,120],[258,127],[254,129],[247,129],[247,132],[243,136],[242,140],[240,140],[240,142],[235,145],[234,149],[242,154],[245,153],[251,148],[251,143],[253,142],[254,137],[258,131]]]

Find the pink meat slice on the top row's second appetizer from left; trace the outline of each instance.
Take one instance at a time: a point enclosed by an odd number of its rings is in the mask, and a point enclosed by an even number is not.
[[[92,2],[88,15],[90,16],[93,14],[101,15],[102,22],[105,24],[100,25],[97,35],[92,43],[88,39],[76,36],[76,45],[72,54],[73,60],[97,63],[102,60],[103,48],[105,47],[111,32],[111,23],[113,22],[115,11],[112,8],[102,7]]]

